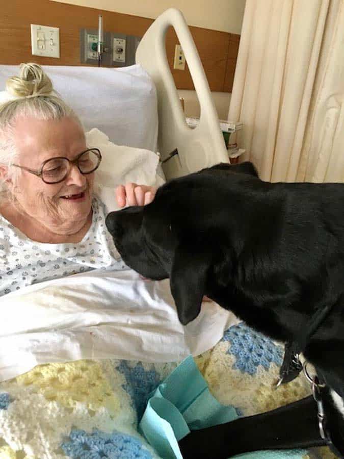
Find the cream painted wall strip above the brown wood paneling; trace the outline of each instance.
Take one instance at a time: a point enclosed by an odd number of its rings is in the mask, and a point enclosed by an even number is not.
[[[53,0],[155,19],[168,8],[182,11],[189,25],[241,33],[245,0]]]

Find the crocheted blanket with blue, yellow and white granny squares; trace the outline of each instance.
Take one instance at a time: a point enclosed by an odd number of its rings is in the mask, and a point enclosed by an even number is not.
[[[309,395],[302,374],[273,390],[282,356],[280,345],[240,323],[195,361],[210,392],[247,416]],[[159,457],[140,435],[138,421],[148,394],[177,365],[81,360],[39,365],[2,382],[0,459]],[[303,457],[335,456],[324,447]]]

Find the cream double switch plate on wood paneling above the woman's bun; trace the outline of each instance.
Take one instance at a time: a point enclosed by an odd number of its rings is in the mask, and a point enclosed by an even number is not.
[[[60,29],[31,24],[31,53],[34,56],[60,58]]]

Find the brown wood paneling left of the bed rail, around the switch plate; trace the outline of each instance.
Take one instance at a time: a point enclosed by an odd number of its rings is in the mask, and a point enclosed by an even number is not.
[[[49,0],[4,0],[0,37],[6,47],[2,50],[0,62],[18,64],[34,60],[43,65],[81,65],[80,29],[97,29],[98,14],[103,15],[104,30],[124,34],[133,34],[134,29],[136,35],[143,36],[152,23],[152,19]],[[31,23],[60,28],[60,59],[32,56]]]

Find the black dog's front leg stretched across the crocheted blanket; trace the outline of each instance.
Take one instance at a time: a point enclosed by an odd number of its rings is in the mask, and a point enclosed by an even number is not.
[[[193,430],[179,441],[183,459],[227,459],[249,451],[324,444],[312,396],[267,413]]]

